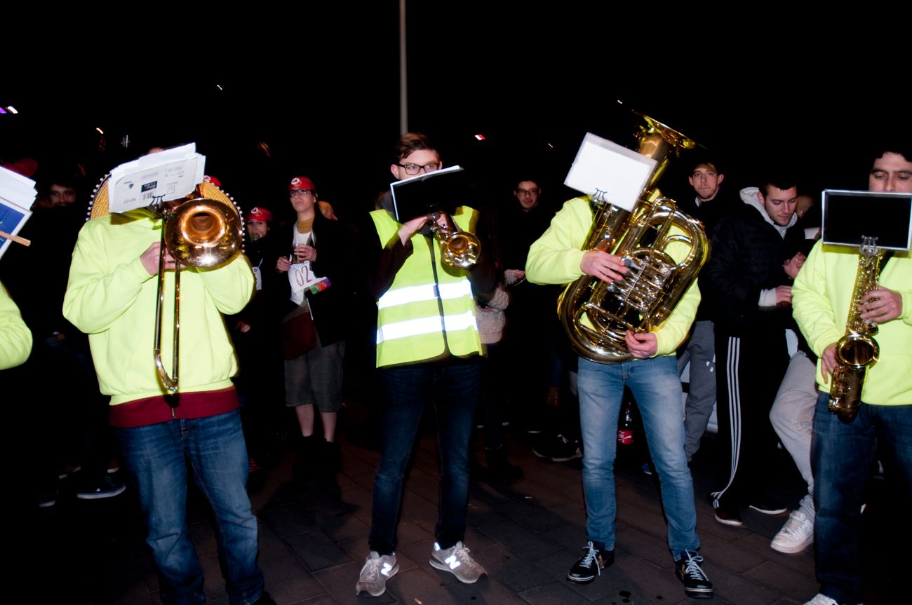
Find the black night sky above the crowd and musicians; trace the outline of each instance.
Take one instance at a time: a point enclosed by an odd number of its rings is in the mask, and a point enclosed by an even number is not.
[[[244,207],[284,205],[285,182],[306,175],[343,215],[367,209],[401,129],[398,3],[365,4],[250,7],[139,42],[109,26],[8,64],[0,105],[21,113],[0,116],[0,159],[78,159],[94,181],[152,146],[195,141]],[[557,6],[408,4],[409,128],[492,196],[533,174],[567,197],[587,130],[632,143],[629,108],[698,140],[738,186],[787,163],[813,194],[864,186],[867,143],[908,131],[907,36],[876,33],[906,15],[764,24]],[[674,192],[683,174],[668,178]]]

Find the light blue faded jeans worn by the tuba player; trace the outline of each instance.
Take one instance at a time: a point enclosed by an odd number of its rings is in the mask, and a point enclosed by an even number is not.
[[[622,364],[579,360],[579,417],[583,429],[583,490],[590,540],[615,548],[617,415],[624,385],[637,399],[649,454],[656,465],[673,557],[700,549],[693,481],[684,454],[681,384],[672,355]]]

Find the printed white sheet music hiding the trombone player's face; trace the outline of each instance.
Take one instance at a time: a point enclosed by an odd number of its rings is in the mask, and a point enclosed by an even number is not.
[[[111,212],[145,208],[156,201],[178,200],[189,195],[205,174],[206,157],[190,143],[152,153],[111,170]]]

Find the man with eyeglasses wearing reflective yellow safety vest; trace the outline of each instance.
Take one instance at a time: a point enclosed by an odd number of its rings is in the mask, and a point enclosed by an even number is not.
[[[396,179],[440,169],[440,156],[418,133],[399,138],[389,171]],[[469,440],[480,388],[482,344],[474,293],[494,287],[493,267],[483,250],[472,270],[440,262],[440,249],[421,215],[400,223],[385,198],[370,213],[365,266],[368,291],[377,301],[377,367],[381,407],[380,461],[374,477],[370,552],[355,591],[378,597],[399,571],[397,526],[402,489],[421,414],[436,408],[440,465],[440,517],[430,566],[472,584],[486,572],[465,547],[469,497]],[[451,217],[472,231],[477,212],[462,206]],[[371,237],[371,231],[375,237]]]

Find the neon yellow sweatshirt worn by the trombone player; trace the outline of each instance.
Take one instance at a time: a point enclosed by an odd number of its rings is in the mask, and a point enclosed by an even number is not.
[[[88,333],[101,392],[111,405],[165,395],[152,356],[158,274],[140,255],[161,238],[149,210],[89,220],[79,231],[63,314]],[[174,274],[166,272],[162,361],[171,368]],[[238,313],[254,294],[243,254],[215,269],[181,269],[180,390],[230,387],[237,361],[222,313]]]

